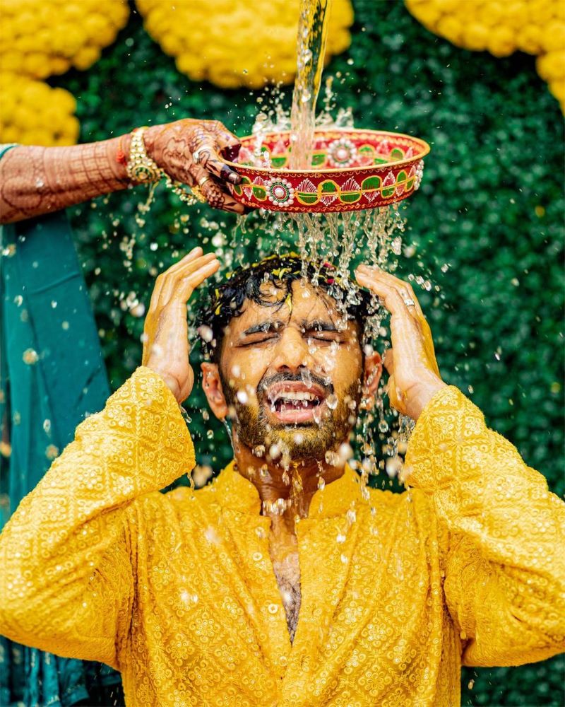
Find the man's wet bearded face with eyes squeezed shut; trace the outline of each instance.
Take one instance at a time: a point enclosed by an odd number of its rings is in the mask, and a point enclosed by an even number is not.
[[[265,288],[273,301],[285,297],[273,284]],[[239,441],[294,461],[323,460],[347,441],[361,397],[358,335],[333,298],[306,281],[295,281],[280,307],[247,301],[220,357]]]

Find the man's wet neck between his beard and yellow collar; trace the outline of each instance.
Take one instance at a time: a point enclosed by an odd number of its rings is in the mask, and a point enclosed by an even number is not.
[[[314,493],[321,486],[339,479],[344,471],[343,464],[333,466],[325,460],[290,462],[290,466],[285,467],[265,456],[258,457],[239,442],[235,434],[234,457],[239,474],[257,489],[263,515],[284,520],[287,530],[293,533],[295,518],[307,518]],[[284,508],[282,513],[281,507]]]

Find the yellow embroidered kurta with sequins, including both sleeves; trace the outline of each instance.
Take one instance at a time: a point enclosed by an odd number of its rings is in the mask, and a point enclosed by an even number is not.
[[[453,387],[410,441],[412,489],[317,491],[297,525],[294,645],[270,520],[227,467],[201,491],[179,407],[139,368],[0,537],[0,631],[121,670],[129,707],[448,706],[460,665],[565,649],[565,505]],[[352,513],[347,513],[348,511]]]

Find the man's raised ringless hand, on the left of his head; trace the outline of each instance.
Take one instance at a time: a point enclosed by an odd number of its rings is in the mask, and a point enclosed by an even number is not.
[[[142,363],[165,380],[179,403],[189,397],[194,385],[186,303],[194,289],[219,267],[213,253],[202,255],[198,247],[155,281],[143,327]]]

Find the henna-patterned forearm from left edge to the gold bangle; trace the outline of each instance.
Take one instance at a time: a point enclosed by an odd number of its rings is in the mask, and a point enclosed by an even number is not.
[[[0,223],[49,214],[129,185],[129,134],[69,147],[21,145],[0,160]]]

